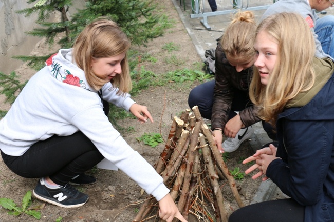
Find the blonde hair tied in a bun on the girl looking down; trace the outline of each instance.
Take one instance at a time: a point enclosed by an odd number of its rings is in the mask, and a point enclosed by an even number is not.
[[[237,11],[221,38],[221,46],[226,56],[250,59],[255,56],[253,48],[256,23],[251,11]]]

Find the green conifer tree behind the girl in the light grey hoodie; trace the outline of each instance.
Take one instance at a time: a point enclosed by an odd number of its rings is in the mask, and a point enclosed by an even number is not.
[[[77,35],[84,27],[99,16],[112,18],[122,30],[132,39],[135,45],[145,45],[150,39],[161,36],[165,28],[170,27],[168,19],[164,15],[152,13],[156,5],[149,0],[88,0],[86,8],[78,10],[72,17],[68,16],[68,10],[73,6],[75,0],[27,0],[28,4],[33,4],[31,8],[26,8],[17,13],[26,17],[36,13],[38,18],[36,24],[40,28],[35,28],[27,32],[28,35],[45,38],[45,43],[54,44],[55,37],[62,36],[57,42],[61,48],[71,48]],[[50,22],[49,19],[55,11],[60,12],[60,21]],[[58,50],[57,50],[58,51]],[[27,62],[28,66],[40,70],[45,66],[45,61],[52,54],[43,56],[14,56]],[[129,63],[133,64],[129,57]],[[1,94],[4,94],[6,102],[12,104],[16,95],[21,92],[24,84],[17,82],[18,76],[15,72],[5,75],[0,72]],[[0,115],[3,112],[0,110]],[[0,116],[1,117],[1,116]]]

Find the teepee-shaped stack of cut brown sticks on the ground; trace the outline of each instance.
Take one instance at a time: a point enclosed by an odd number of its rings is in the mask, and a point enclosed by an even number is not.
[[[186,219],[193,214],[198,221],[228,221],[219,179],[227,180],[238,206],[244,206],[213,136],[198,107],[193,107],[192,112],[186,109],[173,118],[165,147],[154,166]],[[156,199],[147,196],[133,222],[158,219],[157,206]]]

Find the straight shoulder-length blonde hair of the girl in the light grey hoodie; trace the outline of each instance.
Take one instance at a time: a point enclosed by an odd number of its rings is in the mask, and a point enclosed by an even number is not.
[[[99,90],[105,84],[91,70],[93,58],[106,58],[120,55],[130,48],[131,42],[118,25],[108,18],[100,17],[88,24],[79,34],[73,45],[73,57],[78,67],[85,72],[88,84]],[[129,92],[132,88],[127,56],[121,61],[122,73],[110,83],[118,87],[118,94]]]

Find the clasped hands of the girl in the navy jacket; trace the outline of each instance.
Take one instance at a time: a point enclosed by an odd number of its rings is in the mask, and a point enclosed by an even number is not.
[[[258,178],[259,176],[266,175],[267,168],[272,160],[277,159],[276,157],[277,147],[270,144],[269,147],[265,147],[261,150],[257,150],[256,153],[243,161],[243,164],[247,164],[255,160],[255,164],[248,168],[245,173],[249,174],[255,169],[258,169],[259,172],[252,176],[253,179]],[[268,177],[265,176],[262,180],[267,180]]]

